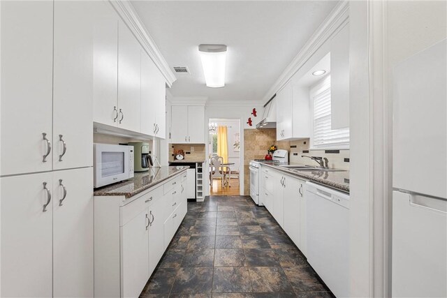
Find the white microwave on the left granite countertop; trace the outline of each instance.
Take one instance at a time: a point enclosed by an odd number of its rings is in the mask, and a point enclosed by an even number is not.
[[[93,144],[94,188],[133,178],[133,146]]]

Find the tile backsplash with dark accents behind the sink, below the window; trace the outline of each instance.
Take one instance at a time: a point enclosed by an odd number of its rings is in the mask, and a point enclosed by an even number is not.
[[[298,140],[291,142],[289,161],[291,163],[300,163],[305,165],[317,165],[315,161],[307,156],[318,156],[328,158],[328,166],[340,169],[349,170],[349,149],[344,150],[309,150],[309,139]]]

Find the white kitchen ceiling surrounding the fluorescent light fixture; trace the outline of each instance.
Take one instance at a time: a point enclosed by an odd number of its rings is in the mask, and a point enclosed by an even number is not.
[[[173,96],[262,100],[337,1],[132,1],[175,74]],[[207,88],[198,45],[228,46],[226,86]]]

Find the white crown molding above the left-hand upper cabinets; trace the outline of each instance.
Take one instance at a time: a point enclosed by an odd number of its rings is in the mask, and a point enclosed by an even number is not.
[[[168,87],[172,87],[173,82],[177,80],[173,71],[168,66],[168,63],[161,54],[159,47],[156,46],[152,36],[147,31],[145,25],[140,20],[138,13],[133,8],[132,3],[129,0],[108,0],[112,4],[113,8],[117,11],[118,15],[122,17],[124,23],[131,29],[133,35],[138,39],[143,49],[147,52],[149,57],[157,68],[161,71],[166,79]]]

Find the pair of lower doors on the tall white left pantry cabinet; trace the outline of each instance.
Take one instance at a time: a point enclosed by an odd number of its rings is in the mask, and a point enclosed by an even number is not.
[[[91,176],[87,167],[1,178],[2,297],[93,296]]]

